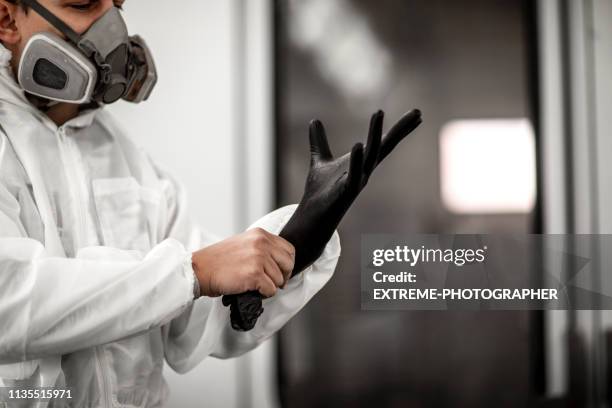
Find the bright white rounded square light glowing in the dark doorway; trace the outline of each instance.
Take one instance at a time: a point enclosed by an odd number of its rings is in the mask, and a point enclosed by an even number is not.
[[[527,119],[457,120],[440,133],[442,202],[460,214],[526,213],[536,195]]]

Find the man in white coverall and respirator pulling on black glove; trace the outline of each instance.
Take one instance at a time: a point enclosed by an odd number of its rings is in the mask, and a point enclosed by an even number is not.
[[[375,115],[365,157],[360,145],[339,159],[313,123],[298,211],[217,242],[103,110],[146,99],[155,82],[122,3],[0,0],[0,378],[72,390],[50,406],[163,406],[164,359],[186,372],[269,338],[330,279],[335,227],[420,123],[413,114],[381,143]],[[220,300],[243,292],[267,298],[250,331],[232,328]]]

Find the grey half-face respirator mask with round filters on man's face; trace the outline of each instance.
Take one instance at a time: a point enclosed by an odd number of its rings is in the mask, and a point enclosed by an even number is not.
[[[108,10],[82,35],[37,0],[21,0],[65,37],[41,32],[32,36],[19,63],[18,81],[28,93],[59,102],[139,103],[157,83],[149,48],[130,37],[119,9]]]

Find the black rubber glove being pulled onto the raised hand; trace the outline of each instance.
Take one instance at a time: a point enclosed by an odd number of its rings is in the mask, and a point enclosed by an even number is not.
[[[357,143],[339,158],[331,153],[323,124],[318,120],[310,123],[310,170],[304,195],[279,234],[295,247],[292,276],[321,256],[374,169],[422,122],[421,112],[413,110],[383,138],[383,118],[382,111],[372,115],[365,151],[363,144]],[[262,296],[257,291],[224,296],[223,304],[230,306],[232,327],[239,331],[251,330],[263,312]]]

